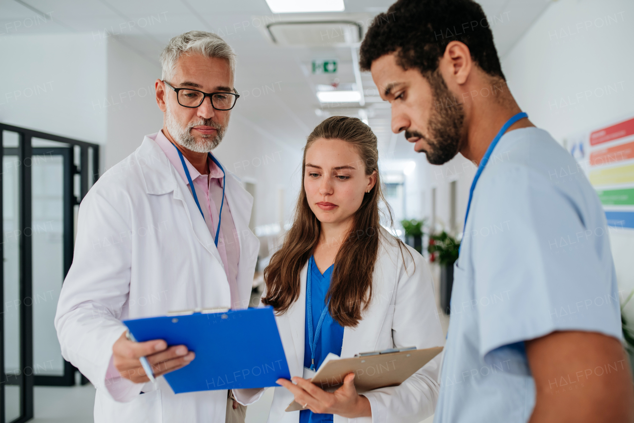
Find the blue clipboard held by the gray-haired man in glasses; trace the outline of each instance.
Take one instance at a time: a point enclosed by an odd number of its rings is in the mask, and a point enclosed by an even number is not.
[[[163,339],[196,353],[166,373],[174,393],[278,386],[290,379],[273,307],[124,320],[138,342]]]

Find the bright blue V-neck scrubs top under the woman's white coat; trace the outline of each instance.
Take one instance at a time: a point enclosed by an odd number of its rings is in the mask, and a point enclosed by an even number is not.
[[[309,269],[311,270],[311,298],[306,296],[306,304],[311,301],[313,306],[313,333],[317,335],[317,324],[321,317],[321,312],[326,307],[326,293],[330,287],[330,278],[334,265],[328,267],[323,274],[315,264],[314,257],[310,258]],[[308,307],[306,307],[308,310]],[[305,319],[304,328],[304,366],[311,366],[311,346],[308,341],[308,318]],[[326,315],[321,324],[321,335],[317,340],[315,349],[315,368],[318,369],[328,355],[328,352],[341,355],[341,346],[344,342],[344,328],[332,319],[330,313]],[[321,423],[332,422],[332,414],[315,414],[311,410],[299,412],[299,423]]]

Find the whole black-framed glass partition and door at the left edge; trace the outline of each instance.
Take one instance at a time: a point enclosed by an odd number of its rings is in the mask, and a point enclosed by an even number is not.
[[[53,321],[99,148],[1,123],[0,146],[0,423],[22,423],[33,418],[34,385],[75,383]]]

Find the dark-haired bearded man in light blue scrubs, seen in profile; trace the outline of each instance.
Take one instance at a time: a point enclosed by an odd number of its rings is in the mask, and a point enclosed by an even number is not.
[[[605,214],[577,164],[508,90],[470,0],[400,0],[361,68],[432,164],[477,164],[455,265],[436,422],[631,422]]]

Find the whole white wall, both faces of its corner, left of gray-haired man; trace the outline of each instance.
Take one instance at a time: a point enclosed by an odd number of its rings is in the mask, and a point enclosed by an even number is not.
[[[100,144],[101,173],[162,126],[158,58],[152,64],[114,37],[13,36],[0,54],[0,122]]]

